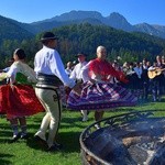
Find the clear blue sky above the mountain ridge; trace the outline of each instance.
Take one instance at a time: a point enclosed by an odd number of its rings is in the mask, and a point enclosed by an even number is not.
[[[0,15],[31,23],[72,10],[119,12],[131,24],[165,25],[165,0],[0,0]]]

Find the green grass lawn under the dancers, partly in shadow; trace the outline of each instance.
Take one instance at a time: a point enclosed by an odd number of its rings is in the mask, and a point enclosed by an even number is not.
[[[165,99],[162,102],[140,103],[134,108],[120,108],[105,113],[105,118],[139,110],[165,110]],[[80,165],[79,135],[87,125],[94,122],[94,112],[89,113],[89,121],[81,122],[80,112],[63,110],[63,119],[58,133],[58,142],[64,144],[61,152],[47,153],[41,151],[33,141],[33,135],[40,128],[44,113],[28,118],[29,140],[9,143],[12,136],[9,122],[0,118],[0,165]],[[157,113],[164,116],[165,111]]]

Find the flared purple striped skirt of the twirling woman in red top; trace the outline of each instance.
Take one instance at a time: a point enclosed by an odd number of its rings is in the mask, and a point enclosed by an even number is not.
[[[108,110],[110,108],[135,106],[138,98],[128,89],[116,84],[85,82],[81,92],[72,90],[67,108],[72,110]]]

